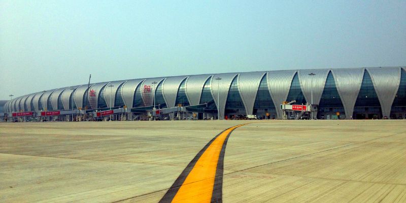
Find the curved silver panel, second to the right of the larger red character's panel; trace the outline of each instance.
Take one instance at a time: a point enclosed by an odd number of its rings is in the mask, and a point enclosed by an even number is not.
[[[198,105],[200,103],[201,91],[209,77],[212,75],[195,75],[190,76],[186,81],[186,95],[190,105]]]

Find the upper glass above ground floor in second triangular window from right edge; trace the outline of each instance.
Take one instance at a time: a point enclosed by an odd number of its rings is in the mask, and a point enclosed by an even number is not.
[[[364,72],[355,107],[381,107],[374,84],[367,71]]]

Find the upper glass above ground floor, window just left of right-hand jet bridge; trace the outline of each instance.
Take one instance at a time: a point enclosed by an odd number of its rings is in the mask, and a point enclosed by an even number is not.
[[[266,75],[264,75],[259,83],[257,96],[255,98],[254,109],[268,109],[275,110],[274,101],[270,97],[268,85],[266,82]]]

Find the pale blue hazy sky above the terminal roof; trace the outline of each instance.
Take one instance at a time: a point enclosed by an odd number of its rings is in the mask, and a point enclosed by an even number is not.
[[[4,1],[0,99],[122,79],[406,65],[406,1]]]

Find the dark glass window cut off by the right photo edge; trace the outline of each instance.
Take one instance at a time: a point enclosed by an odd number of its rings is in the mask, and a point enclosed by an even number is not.
[[[395,99],[392,103],[390,117],[392,119],[405,118],[406,112],[406,72],[402,69],[400,73],[400,83]]]

